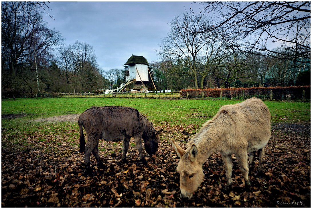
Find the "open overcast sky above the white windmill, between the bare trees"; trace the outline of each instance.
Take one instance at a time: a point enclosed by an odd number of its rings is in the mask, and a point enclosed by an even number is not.
[[[168,23],[190,7],[201,6],[193,1],[51,1],[49,14],[55,20],[43,18],[60,31],[66,45],[76,40],[91,45],[100,68],[107,71],[123,69],[131,55],[158,61],[155,50],[170,31]]]

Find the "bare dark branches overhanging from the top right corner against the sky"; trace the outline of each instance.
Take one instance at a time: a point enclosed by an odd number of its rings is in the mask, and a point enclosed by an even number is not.
[[[236,50],[295,62],[310,62],[310,1],[199,3],[204,8],[199,12],[192,10],[194,14],[213,17],[214,23],[196,32],[218,30],[239,34],[241,41],[235,45]],[[270,43],[276,42],[280,43],[281,48],[292,49],[293,55],[289,57],[288,54],[270,49]]]

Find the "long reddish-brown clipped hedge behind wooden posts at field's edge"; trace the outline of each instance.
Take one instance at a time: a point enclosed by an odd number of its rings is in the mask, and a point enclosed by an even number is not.
[[[304,91],[303,91],[304,90]],[[183,98],[310,100],[310,86],[182,89]],[[304,98],[303,98],[304,97]]]

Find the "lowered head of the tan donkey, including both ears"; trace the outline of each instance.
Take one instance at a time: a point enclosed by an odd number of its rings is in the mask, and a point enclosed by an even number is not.
[[[193,144],[187,150],[183,150],[173,139],[171,142],[180,157],[177,171],[180,173],[181,197],[191,199],[204,178],[202,164],[197,159],[197,146]]]

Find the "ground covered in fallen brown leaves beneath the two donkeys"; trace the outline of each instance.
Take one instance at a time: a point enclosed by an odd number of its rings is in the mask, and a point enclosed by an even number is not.
[[[128,163],[120,161],[122,142],[100,141],[100,157],[107,169],[98,169],[91,157],[93,175],[85,173],[84,156],[64,135],[41,135],[46,140],[28,149],[2,148],[2,207],[311,207],[310,124],[272,124],[266,147],[264,172],[251,172],[246,191],[235,161],[233,188],[224,191],[224,165],[218,153],[203,165],[204,181],[191,200],[180,198],[178,157],[170,139],[185,148],[194,128],[163,128],[157,159],[139,161],[130,141]],[[28,137],[38,141],[37,135]],[[2,138],[6,140],[6,138]],[[76,143],[78,142],[78,138]],[[183,144],[185,143],[185,144]],[[257,159],[256,168],[257,168]]]

